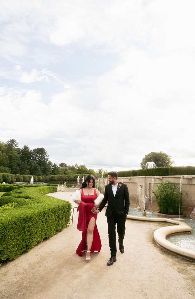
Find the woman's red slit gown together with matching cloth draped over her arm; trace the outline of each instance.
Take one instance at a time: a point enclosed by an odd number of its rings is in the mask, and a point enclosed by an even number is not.
[[[81,189],[81,201],[78,207],[79,210],[79,219],[78,219],[78,226],[77,229],[82,230],[82,240],[76,250],[76,253],[82,257],[82,251],[85,250],[85,237],[87,234],[87,228],[89,225],[89,221],[92,217],[95,218],[95,227],[93,231],[93,242],[92,242],[92,247],[91,247],[91,252],[98,251],[100,252],[100,249],[102,247],[101,240],[100,240],[100,235],[97,230],[97,225],[96,225],[96,219],[97,219],[97,214],[92,213],[92,208],[94,207],[94,200],[97,198],[96,190],[94,188],[94,194],[93,195],[84,195],[83,193],[83,188]],[[85,206],[84,203],[87,205]],[[83,219],[85,217],[85,219]],[[82,223],[81,223],[82,222]],[[85,225],[86,222],[86,225]]]

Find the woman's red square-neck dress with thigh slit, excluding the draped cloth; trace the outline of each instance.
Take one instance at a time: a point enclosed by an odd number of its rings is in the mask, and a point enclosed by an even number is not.
[[[98,233],[97,225],[96,225],[97,214],[92,213],[92,208],[94,207],[94,200],[97,198],[96,190],[94,188],[94,194],[93,195],[84,195],[83,188],[81,190],[82,190],[81,201],[85,202],[87,205],[85,206],[86,228],[83,229],[82,240],[81,240],[81,242],[80,242],[80,244],[79,244],[79,246],[76,250],[76,253],[80,257],[83,256],[82,251],[85,250],[85,246],[86,246],[85,237],[86,237],[86,234],[87,234],[87,228],[88,228],[88,225],[89,225],[89,221],[92,217],[95,218],[95,227],[94,227],[94,231],[93,231],[93,242],[92,242],[91,252],[94,252],[94,251],[99,251],[100,252],[100,249],[102,247],[101,240],[100,240],[100,235]],[[80,211],[79,211],[79,213],[80,213]],[[81,216],[81,215],[79,215],[79,216]]]

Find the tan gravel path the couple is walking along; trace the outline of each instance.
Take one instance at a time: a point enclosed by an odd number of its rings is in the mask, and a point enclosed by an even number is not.
[[[51,196],[71,202],[71,192]],[[74,203],[73,206],[76,206]],[[76,209],[75,209],[76,211]],[[165,224],[127,219],[124,254],[110,257],[105,208],[97,216],[102,241],[91,261],[75,250],[81,240],[73,226],[37,244],[0,268],[1,299],[194,299],[195,263],[159,248],[153,232]]]

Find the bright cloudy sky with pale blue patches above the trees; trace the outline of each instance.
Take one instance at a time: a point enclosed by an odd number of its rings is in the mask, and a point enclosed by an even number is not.
[[[139,169],[149,152],[195,166],[193,0],[7,0],[0,141],[56,164]]]

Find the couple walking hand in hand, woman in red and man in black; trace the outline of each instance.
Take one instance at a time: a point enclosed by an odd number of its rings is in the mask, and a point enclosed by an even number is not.
[[[104,196],[95,189],[95,178],[87,176],[81,189],[73,194],[79,210],[77,229],[82,230],[82,240],[76,250],[79,256],[86,253],[86,261],[90,260],[90,252],[100,251],[101,241],[96,226],[97,214],[105,207],[108,223],[108,237],[111,257],[108,266],[116,262],[116,232],[117,224],[119,250],[124,253],[123,239],[125,235],[125,221],[129,211],[129,191],[126,184],[118,181],[118,174],[115,171],[108,173],[109,184],[105,187]]]

